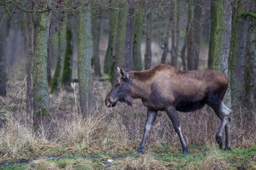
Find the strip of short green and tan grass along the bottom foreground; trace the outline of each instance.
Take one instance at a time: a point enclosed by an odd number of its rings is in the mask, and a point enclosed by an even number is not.
[[[166,146],[136,153],[70,150],[41,150],[26,157],[0,161],[0,170],[255,170],[256,147],[224,152],[215,146],[189,146],[190,153],[172,153]],[[148,148],[147,148],[148,149]],[[109,160],[109,161],[108,161]],[[111,161],[113,160],[113,161]],[[111,162],[110,162],[111,161]]]

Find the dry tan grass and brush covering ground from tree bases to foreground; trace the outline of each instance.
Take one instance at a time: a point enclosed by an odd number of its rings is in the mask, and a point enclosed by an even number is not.
[[[165,112],[158,112],[144,153],[139,154],[134,151],[143,136],[146,108],[139,100],[134,100],[133,107],[123,103],[105,107],[104,99],[111,89],[108,81],[94,81],[98,109],[84,119],[79,112],[78,86],[50,94],[51,121],[38,130],[32,127],[32,109],[26,104],[23,80],[17,84],[9,88],[20,86],[19,90],[9,90],[6,98],[0,98],[0,169],[256,169],[253,107],[234,106],[232,151],[216,147],[215,134],[221,122],[206,106],[196,112],[178,113],[190,150],[187,156],[180,154],[180,140]],[[29,158],[26,164],[10,163],[24,158]]]

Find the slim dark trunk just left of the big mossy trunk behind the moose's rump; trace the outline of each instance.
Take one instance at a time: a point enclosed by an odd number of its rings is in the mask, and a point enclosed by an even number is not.
[[[208,55],[208,69],[212,69],[212,57],[214,52],[214,35],[216,24],[216,5],[215,2],[211,4],[211,29],[210,29],[210,41],[209,41],[209,55]]]

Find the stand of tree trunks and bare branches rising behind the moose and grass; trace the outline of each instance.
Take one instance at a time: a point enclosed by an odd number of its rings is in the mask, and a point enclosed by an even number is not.
[[[253,105],[255,13],[255,0],[0,0],[0,94],[8,95],[8,72],[25,60],[35,115],[48,115],[49,92],[78,81],[86,117],[96,106],[93,79],[114,84],[117,66],[129,71],[166,63],[224,72],[228,105]]]

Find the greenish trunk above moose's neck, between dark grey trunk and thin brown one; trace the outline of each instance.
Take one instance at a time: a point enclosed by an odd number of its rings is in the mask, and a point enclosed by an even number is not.
[[[134,17],[134,35],[133,35],[133,47],[132,47],[132,62],[133,70],[141,71],[142,70],[142,59],[141,59],[141,40],[142,40],[142,20],[143,15],[137,14]]]

